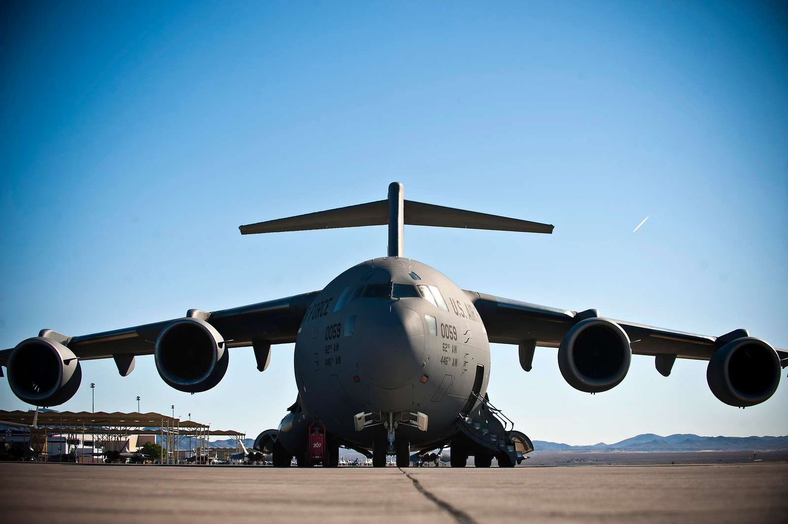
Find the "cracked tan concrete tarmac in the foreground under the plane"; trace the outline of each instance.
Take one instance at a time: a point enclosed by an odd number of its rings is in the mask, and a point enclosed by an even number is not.
[[[786,522],[788,463],[163,467],[0,463],[3,522]]]

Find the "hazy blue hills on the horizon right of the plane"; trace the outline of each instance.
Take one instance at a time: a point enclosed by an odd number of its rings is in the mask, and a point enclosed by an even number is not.
[[[675,434],[661,437],[646,433],[625,438],[615,444],[600,442],[594,445],[571,446],[557,442],[533,441],[535,451],[630,451],[630,452],[682,452],[682,451],[769,451],[788,449],[788,436],[784,437],[701,437],[694,434]]]

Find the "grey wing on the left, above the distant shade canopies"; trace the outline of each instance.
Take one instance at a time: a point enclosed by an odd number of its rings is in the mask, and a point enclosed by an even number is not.
[[[259,302],[240,308],[202,312],[190,309],[187,316],[205,320],[221,334],[227,347],[252,345],[252,341],[287,344],[296,341],[299,325],[319,291]],[[162,320],[136,327],[68,337],[52,330],[39,336],[59,338],[80,360],[104,359],[116,355],[152,355],[158,334],[179,319]],[[13,349],[0,351],[0,365],[5,366]]]

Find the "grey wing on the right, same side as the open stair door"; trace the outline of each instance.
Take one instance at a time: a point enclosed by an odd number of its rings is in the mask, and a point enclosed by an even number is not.
[[[465,290],[479,312],[490,342],[520,344],[536,341],[537,346],[557,348],[567,331],[585,318],[599,316],[595,309],[574,312],[539,304],[494,297],[486,293]],[[719,347],[717,339],[709,335],[685,333],[661,327],[610,319],[619,324],[630,338],[635,355],[675,355],[678,358],[710,360]],[[731,334],[748,336],[746,330]],[[775,349],[782,367],[788,366],[788,350]]]

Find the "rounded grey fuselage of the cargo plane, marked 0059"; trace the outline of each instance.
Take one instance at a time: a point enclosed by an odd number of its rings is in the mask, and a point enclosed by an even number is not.
[[[290,452],[303,452],[314,415],[330,434],[371,449],[374,428],[354,426],[361,411],[426,414],[426,431],[397,430],[421,449],[455,434],[457,415],[476,402],[472,391],[484,395],[490,352],[459,286],[416,260],[385,257],[325,286],[303,318],[294,360],[299,407],[279,434]]]

